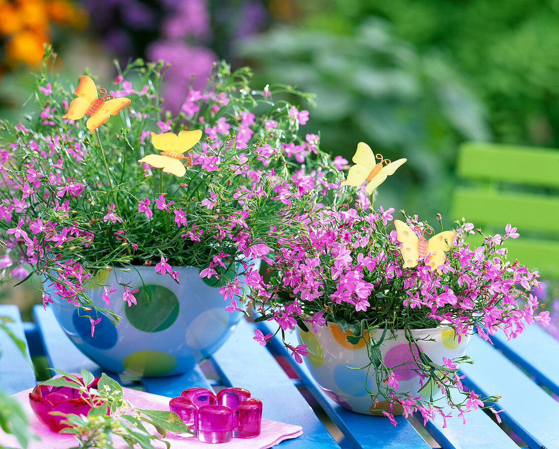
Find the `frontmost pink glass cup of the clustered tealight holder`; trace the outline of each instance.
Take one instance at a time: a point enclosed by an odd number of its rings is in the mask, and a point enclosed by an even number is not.
[[[203,405],[195,418],[198,440],[204,443],[226,443],[233,438],[234,410],[225,405]]]

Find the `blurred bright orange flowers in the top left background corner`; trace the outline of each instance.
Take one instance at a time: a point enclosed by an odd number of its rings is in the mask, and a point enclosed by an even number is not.
[[[0,39],[6,41],[8,65],[38,65],[43,44],[50,42],[52,23],[82,27],[84,10],[67,0],[0,0]]]

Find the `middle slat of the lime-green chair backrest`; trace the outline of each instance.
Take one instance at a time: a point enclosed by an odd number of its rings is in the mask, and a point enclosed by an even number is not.
[[[559,197],[458,187],[451,216],[465,217],[476,226],[499,226],[503,232],[511,223],[521,236],[524,230],[555,233],[559,231]]]

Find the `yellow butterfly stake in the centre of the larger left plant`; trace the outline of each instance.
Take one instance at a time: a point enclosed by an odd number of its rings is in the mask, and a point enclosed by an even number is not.
[[[172,132],[163,134],[151,133],[151,142],[153,146],[161,151],[161,154],[148,154],[138,162],[145,162],[154,167],[163,169],[166,173],[175,176],[184,176],[186,169],[184,166],[192,166],[192,156],[194,151],[190,150],[202,138],[202,130],[181,131],[178,136]],[[183,152],[188,151],[188,156],[184,156]],[[187,160],[183,164],[181,161]]]

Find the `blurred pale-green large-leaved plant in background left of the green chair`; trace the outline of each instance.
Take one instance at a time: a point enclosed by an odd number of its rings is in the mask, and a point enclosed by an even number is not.
[[[240,53],[266,79],[316,93],[307,127],[322,130],[326,151],[349,160],[364,141],[389,159],[408,158],[377,205],[444,215],[458,142],[491,137],[484,107],[440,52],[419,52],[379,18],[351,25],[337,35],[277,27],[244,42]]]

